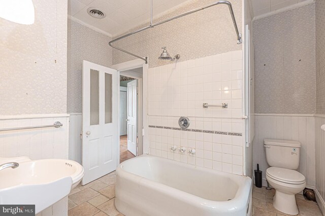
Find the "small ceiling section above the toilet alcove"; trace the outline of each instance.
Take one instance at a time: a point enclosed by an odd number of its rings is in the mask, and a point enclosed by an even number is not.
[[[251,0],[254,17],[296,5],[307,0]]]

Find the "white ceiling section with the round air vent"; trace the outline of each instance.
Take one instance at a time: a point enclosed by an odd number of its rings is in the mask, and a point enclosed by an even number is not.
[[[160,16],[193,0],[153,0],[153,14]],[[69,0],[68,15],[92,27],[116,36],[150,21],[151,0]],[[106,13],[104,19],[88,15],[90,7]]]

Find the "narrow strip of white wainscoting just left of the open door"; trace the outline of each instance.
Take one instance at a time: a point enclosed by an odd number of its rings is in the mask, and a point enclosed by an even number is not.
[[[81,144],[80,138],[82,127],[82,114],[70,113],[70,125],[69,125],[69,159],[77,161],[81,164]]]

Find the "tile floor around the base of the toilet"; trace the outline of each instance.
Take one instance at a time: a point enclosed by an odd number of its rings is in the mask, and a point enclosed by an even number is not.
[[[253,215],[255,216],[283,216],[288,215],[276,210],[273,207],[273,196],[275,190],[266,190],[265,187],[257,188],[254,186],[252,195]],[[296,200],[299,214],[303,216],[322,216],[316,202],[305,200],[303,195],[297,194]]]

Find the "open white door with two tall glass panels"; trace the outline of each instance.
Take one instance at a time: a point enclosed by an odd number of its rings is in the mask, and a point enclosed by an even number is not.
[[[82,185],[117,166],[117,71],[83,61]]]

